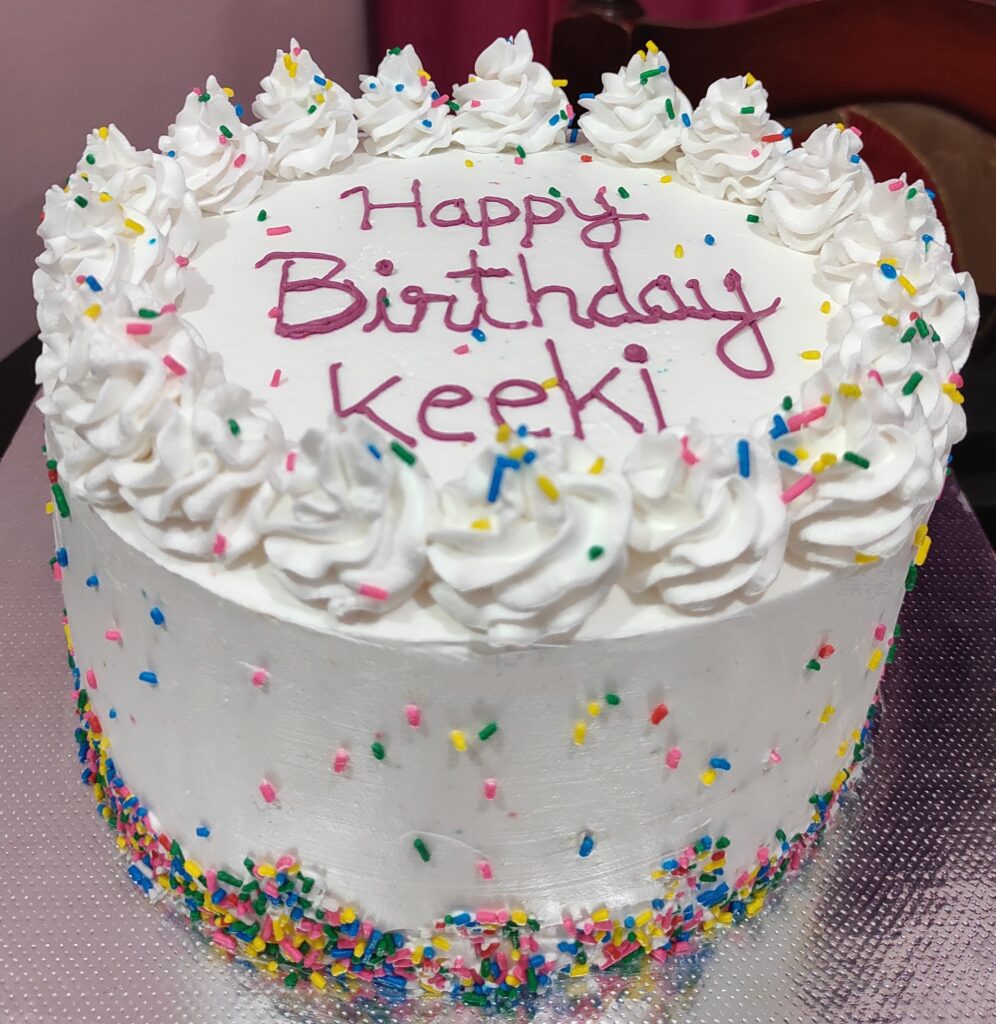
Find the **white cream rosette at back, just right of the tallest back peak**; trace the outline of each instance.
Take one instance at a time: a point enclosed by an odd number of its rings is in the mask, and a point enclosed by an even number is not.
[[[602,76],[602,91],[581,96],[588,111],[578,125],[605,157],[631,164],[666,160],[678,150],[682,118],[692,112],[675,85],[667,58],[652,43],[635,53],[618,72]]]

